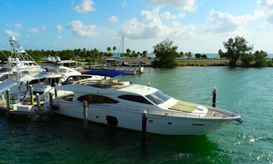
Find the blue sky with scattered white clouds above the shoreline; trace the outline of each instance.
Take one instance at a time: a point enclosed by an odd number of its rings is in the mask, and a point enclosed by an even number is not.
[[[165,39],[177,51],[217,53],[240,36],[273,53],[273,0],[1,0],[0,47],[14,35],[24,49],[126,48],[153,51]]]

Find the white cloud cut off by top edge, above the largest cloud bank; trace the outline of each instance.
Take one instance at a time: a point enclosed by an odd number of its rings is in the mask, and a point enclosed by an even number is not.
[[[197,5],[195,4],[195,0],[146,0],[150,4],[161,7],[161,6],[172,6],[177,10],[185,10],[185,11],[195,11],[197,9]]]

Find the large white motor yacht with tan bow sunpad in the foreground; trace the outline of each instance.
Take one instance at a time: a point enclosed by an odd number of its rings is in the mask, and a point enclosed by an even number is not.
[[[83,119],[82,104],[87,101],[89,121],[119,128],[141,131],[144,110],[147,132],[164,135],[207,135],[234,121],[243,122],[235,113],[127,81],[84,79],[56,89],[73,93],[55,97],[55,113]]]

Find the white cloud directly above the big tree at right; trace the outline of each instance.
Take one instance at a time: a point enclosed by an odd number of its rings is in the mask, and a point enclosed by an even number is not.
[[[232,14],[214,12],[212,9],[207,16],[207,20],[213,24],[213,28],[206,29],[206,32],[231,34],[238,33],[238,31],[243,32],[244,25],[253,20],[253,17],[251,15],[235,17]]]

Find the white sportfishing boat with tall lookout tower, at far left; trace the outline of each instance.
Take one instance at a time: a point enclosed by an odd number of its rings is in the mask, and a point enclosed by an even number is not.
[[[27,82],[34,80],[35,75],[44,71],[19,45],[19,41],[11,36],[11,57],[8,57],[0,70],[0,93],[10,89],[12,97],[19,97],[20,93],[27,90]]]

